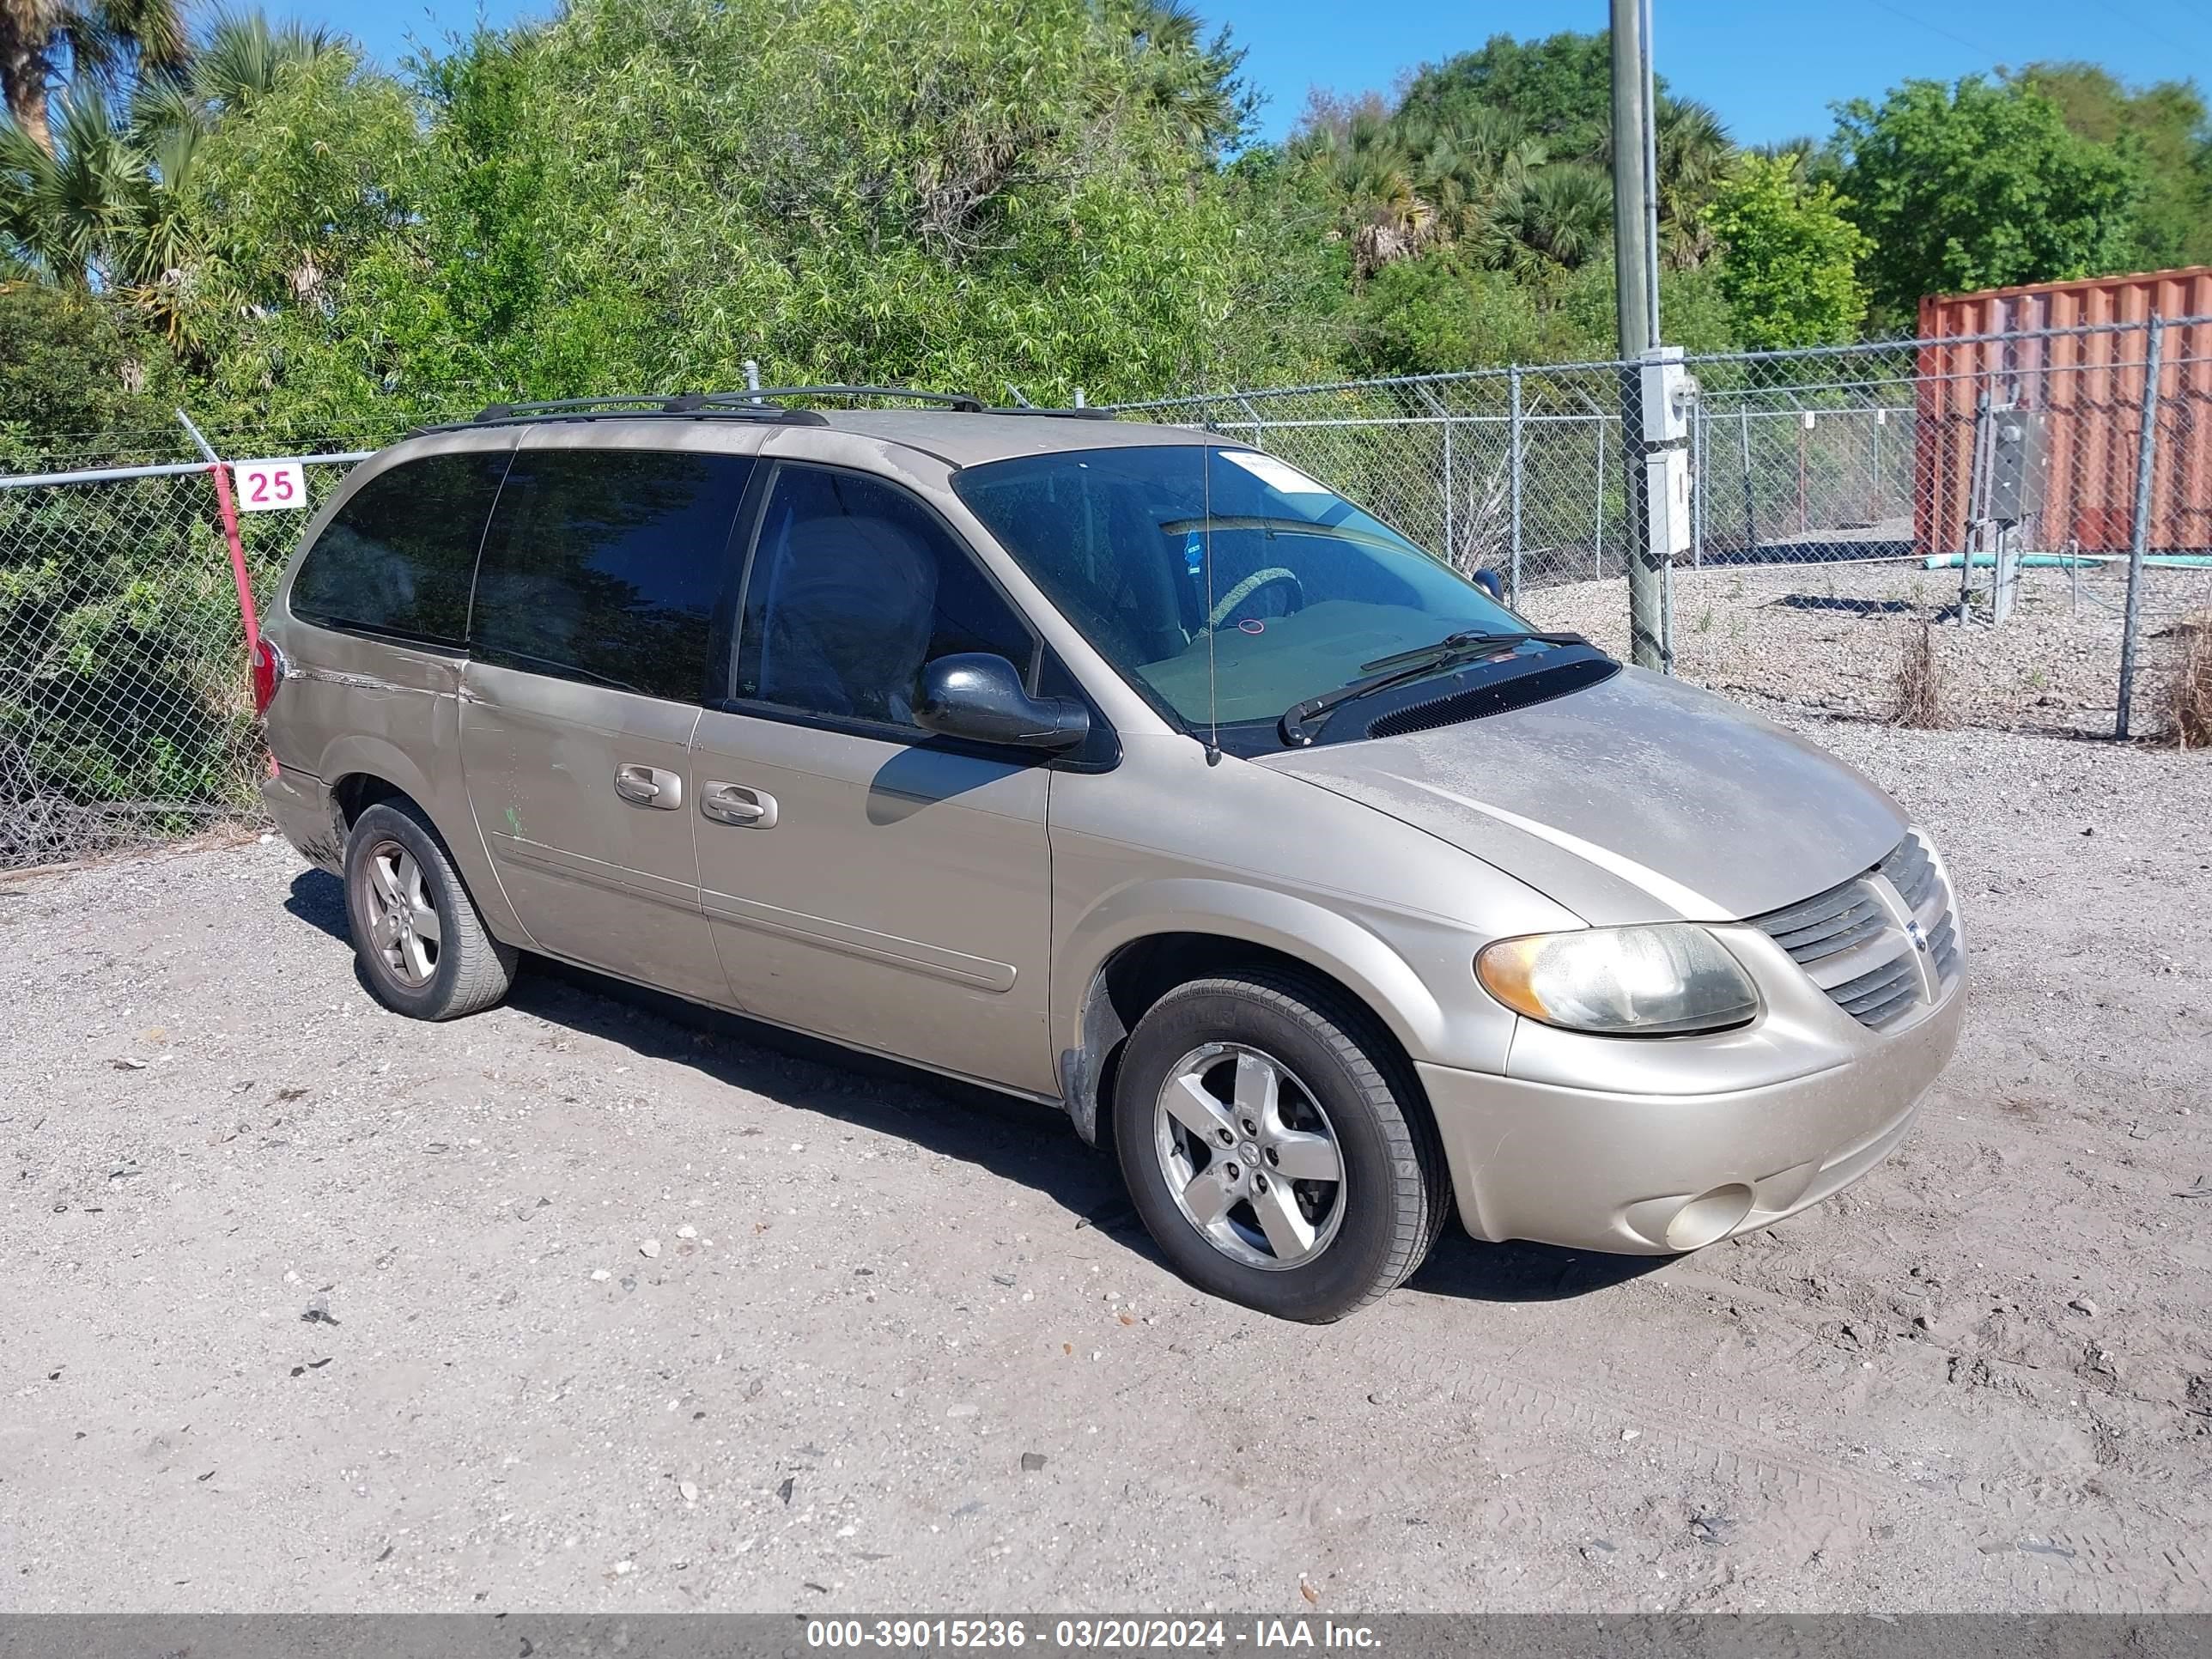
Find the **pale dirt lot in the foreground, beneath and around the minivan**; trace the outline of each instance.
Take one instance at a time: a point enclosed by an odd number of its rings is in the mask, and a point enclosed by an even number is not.
[[[387,1015],[283,845],[0,883],[0,1608],[2212,1608],[2212,763],[1820,737],[1960,874],[1905,1150],[1332,1329],[1035,1108]]]

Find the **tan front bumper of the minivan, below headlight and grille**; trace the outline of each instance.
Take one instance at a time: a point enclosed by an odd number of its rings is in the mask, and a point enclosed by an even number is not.
[[[1728,1093],[1613,1093],[1416,1064],[1478,1239],[1674,1254],[1840,1192],[1905,1139],[1958,1046],[1964,984],[1849,1060]]]

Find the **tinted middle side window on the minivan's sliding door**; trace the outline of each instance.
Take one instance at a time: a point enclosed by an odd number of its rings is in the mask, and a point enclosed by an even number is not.
[[[752,462],[522,449],[484,538],[469,644],[491,661],[697,701]]]

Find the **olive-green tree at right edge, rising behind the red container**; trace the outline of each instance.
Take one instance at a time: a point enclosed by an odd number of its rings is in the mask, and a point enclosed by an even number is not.
[[[2212,263],[2212,115],[2192,80],[2130,91],[2097,64],[2031,64],[2020,82],[2095,144],[2128,146],[2143,173],[2135,208],[2137,270]]]

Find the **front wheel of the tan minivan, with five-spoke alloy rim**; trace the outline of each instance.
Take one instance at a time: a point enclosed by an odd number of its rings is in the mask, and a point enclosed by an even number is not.
[[[1130,1201],[1170,1265],[1310,1325],[1405,1283],[1451,1214],[1407,1071],[1365,1009],[1307,975],[1252,969],[1155,1002],[1121,1055],[1113,1128]],[[1327,1170],[1316,1137],[1334,1146],[1336,1181],[1285,1181]]]

